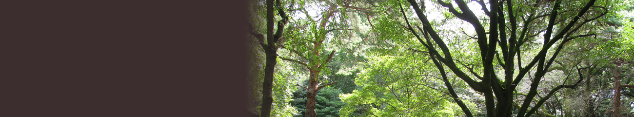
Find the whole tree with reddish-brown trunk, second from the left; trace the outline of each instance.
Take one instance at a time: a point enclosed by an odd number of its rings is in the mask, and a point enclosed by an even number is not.
[[[305,113],[307,117],[314,117],[317,114],[314,111],[317,91],[327,85],[336,83],[332,82],[321,85],[321,82],[319,82],[321,71],[324,70],[328,61],[330,61],[332,56],[335,54],[335,51],[330,52],[330,54],[322,53],[324,49],[324,41],[327,40],[327,35],[330,32],[335,30],[344,30],[342,28],[333,28],[332,23],[331,25],[328,25],[328,23],[331,22],[330,18],[335,15],[335,12],[339,11],[339,9],[337,9],[337,4],[330,2],[322,2],[322,4],[327,5],[328,9],[321,13],[322,16],[320,20],[314,20],[312,16],[308,15],[306,8],[304,8],[304,4],[300,4],[301,11],[306,14],[307,21],[303,24],[302,22],[294,23],[292,26],[294,30],[290,30],[290,32],[288,32],[289,40],[285,44],[279,46],[293,52],[296,56],[296,58],[285,58],[280,56],[280,59],[302,65],[309,71],[309,83],[306,87],[304,87],[304,89],[307,90]],[[306,27],[305,25],[308,25],[307,28],[304,28]]]

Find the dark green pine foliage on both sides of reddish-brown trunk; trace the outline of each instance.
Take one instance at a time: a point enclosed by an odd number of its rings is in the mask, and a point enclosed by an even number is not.
[[[341,93],[340,89],[333,89],[332,87],[324,87],[317,91],[317,102],[315,106],[317,116],[339,116],[339,109],[346,104],[346,102],[342,102],[341,99],[339,99],[339,94]],[[293,99],[293,101],[290,101],[290,104],[295,106],[297,111],[299,111],[299,113],[294,114],[293,117],[304,117],[304,111],[306,111],[306,89],[298,87],[297,90],[293,92]]]

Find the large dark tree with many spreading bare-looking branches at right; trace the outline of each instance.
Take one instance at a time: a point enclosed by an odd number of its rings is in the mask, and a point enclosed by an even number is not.
[[[438,29],[434,29],[434,26],[438,24],[429,21],[424,13],[425,7],[418,6],[415,0],[408,0],[408,3],[420,20],[420,27],[411,25],[403,8],[401,8],[401,12],[406,25],[397,26],[408,29],[424,46],[424,49],[427,49],[431,60],[441,73],[444,85],[446,85],[452,99],[460,106],[466,116],[472,116],[470,109],[456,95],[455,89],[448,80],[445,68],[467,83],[471,89],[484,95],[487,116],[512,116],[516,88],[522,80],[526,80],[527,75],[531,75],[529,71],[536,70],[532,74],[534,78],[529,86],[530,89],[526,95],[523,95],[524,101],[517,109],[519,117],[531,116],[559,89],[576,87],[581,83],[584,77],[580,70],[587,69],[588,66],[575,66],[579,77],[576,82],[554,87],[546,96],[533,104],[542,78],[548,73],[548,69],[552,66],[553,60],[557,58],[562,47],[569,40],[596,35],[594,32],[579,30],[579,28],[604,16],[607,13],[605,7],[609,3],[609,1],[602,1],[595,4],[597,0],[528,1],[530,3],[512,0],[491,0],[488,3],[475,1],[482,6],[482,11],[484,11],[484,16],[477,16],[465,1],[455,0],[447,3],[439,0],[432,2],[448,9],[448,14],[451,17],[459,18],[472,25],[475,36],[469,35],[469,37],[475,40],[477,49],[474,54],[477,54],[475,58],[478,59],[471,61],[455,57],[465,53],[456,53],[450,50],[455,49],[450,48],[446,43],[450,37],[439,35]],[[457,9],[454,8],[454,4],[458,5]],[[489,8],[486,8],[487,5]],[[583,7],[576,8],[574,6]],[[540,13],[540,11],[548,11],[548,13]],[[518,27],[518,25],[520,26]],[[539,34],[543,34],[543,38],[541,41],[536,41],[536,39],[540,39],[538,38]],[[536,53],[523,50],[522,47],[525,46],[536,46],[531,45],[533,43],[541,43],[541,47]],[[555,44],[557,45],[555,46]],[[467,53],[465,55],[474,54]],[[528,62],[524,61],[527,64],[522,66],[521,56],[531,56],[532,59],[528,59]],[[456,65],[456,61],[462,67]],[[517,66],[515,61],[517,61]],[[498,74],[501,76],[498,77]],[[533,107],[530,108],[531,106]]]

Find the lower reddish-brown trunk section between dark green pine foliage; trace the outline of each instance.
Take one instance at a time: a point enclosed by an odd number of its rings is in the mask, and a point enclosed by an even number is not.
[[[317,70],[310,69],[311,76],[308,80],[308,90],[306,91],[306,117],[316,117],[317,112],[315,111],[316,104],[316,96],[317,96],[317,78],[319,78],[319,73]]]

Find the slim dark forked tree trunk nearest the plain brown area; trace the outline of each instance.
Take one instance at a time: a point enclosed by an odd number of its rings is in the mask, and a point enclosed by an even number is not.
[[[266,65],[264,66],[264,82],[262,82],[262,106],[261,106],[261,114],[262,117],[271,116],[271,104],[273,103],[273,78],[275,74],[275,65],[277,64],[277,50],[278,46],[276,43],[279,42],[280,37],[282,37],[284,32],[284,26],[288,22],[288,16],[284,12],[283,8],[281,8],[281,1],[275,0],[275,6],[278,9],[278,15],[281,16],[281,20],[278,22],[277,31],[273,34],[273,29],[275,28],[275,14],[273,7],[273,0],[266,0],[266,42],[264,35],[259,34],[254,30],[252,24],[248,24],[249,34],[256,37],[259,41],[260,46],[264,49],[266,53]]]

